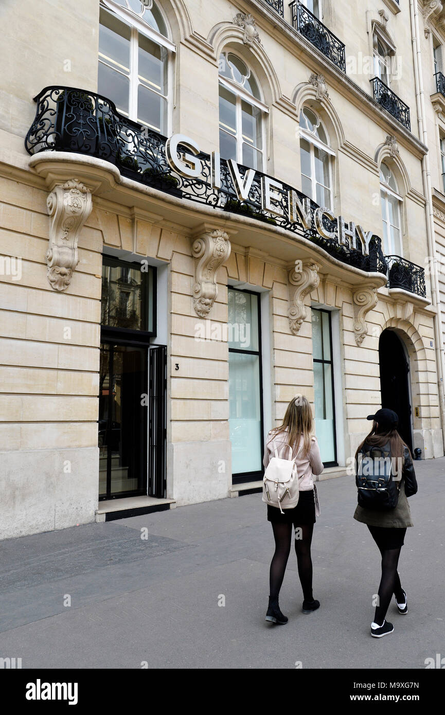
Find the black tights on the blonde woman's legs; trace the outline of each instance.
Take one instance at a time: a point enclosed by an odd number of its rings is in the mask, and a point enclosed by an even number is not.
[[[275,553],[270,563],[270,601],[278,601],[285,568],[288,563],[294,527],[292,524],[272,523],[272,528],[273,537],[275,538]],[[305,601],[313,601],[312,560],[310,558],[312,533],[313,524],[297,526],[295,531],[295,553],[297,555],[298,576],[300,577]]]

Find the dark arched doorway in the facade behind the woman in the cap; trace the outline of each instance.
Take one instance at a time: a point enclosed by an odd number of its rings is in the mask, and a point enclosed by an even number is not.
[[[378,341],[380,362],[381,406],[398,414],[398,431],[413,449],[411,400],[409,391],[409,358],[394,330],[383,330]]]

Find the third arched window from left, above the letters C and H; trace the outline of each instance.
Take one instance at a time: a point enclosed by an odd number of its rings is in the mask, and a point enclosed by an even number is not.
[[[332,162],[335,152],[312,109],[300,112],[301,190],[319,206],[333,209]]]

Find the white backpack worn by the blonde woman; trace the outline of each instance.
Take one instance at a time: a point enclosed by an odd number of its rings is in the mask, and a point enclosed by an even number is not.
[[[298,470],[295,464],[297,456],[292,458],[292,447],[289,445],[290,459],[278,457],[275,445],[275,457],[270,459],[263,476],[263,501],[270,506],[277,506],[283,514],[283,509],[293,509],[298,504]]]

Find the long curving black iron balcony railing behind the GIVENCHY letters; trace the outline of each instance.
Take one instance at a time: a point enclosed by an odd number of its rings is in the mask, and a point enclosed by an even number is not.
[[[323,238],[316,230],[317,204],[310,202],[310,228],[288,215],[288,192],[295,190],[301,201],[306,197],[297,189],[283,184],[279,207],[283,215],[270,215],[262,209],[261,181],[265,176],[255,172],[248,199],[240,201],[235,193],[230,170],[225,160],[220,160],[221,188],[212,185],[211,157],[200,153],[202,164],[199,178],[184,177],[174,172],[165,153],[166,137],[142,127],[137,122],[119,114],[113,102],[100,94],[74,87],[45,87],[34,97],[36,117],[26,134],[25,147],[29,154],[38,152],[74,152],[112,162],[121,174],[133,181],[147,184],[175,197],[184,197],[200,204],[255,218],[269,225],[280,226],[320,246],[329,255],[346,265],[366,272],[387,274],[381,239],[374,235],[368,255],[361,247],[341,245],[338,242],[336,221],[323,215],[326,230],[335,237]],[[180,148],[187,151],[186,147]],[[239,166],[243,180],[248,167]],[[273,179],[273,177],[270,177]],[[360,246],[360,244],[358,244]]]

